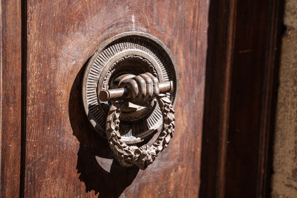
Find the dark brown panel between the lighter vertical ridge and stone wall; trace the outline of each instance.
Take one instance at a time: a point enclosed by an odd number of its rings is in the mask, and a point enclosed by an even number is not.
[[[225,196],[269,197],[282,1],[241,1],[236,12]]]

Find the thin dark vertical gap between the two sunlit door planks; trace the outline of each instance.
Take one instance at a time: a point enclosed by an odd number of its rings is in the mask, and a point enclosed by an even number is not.
[[[24,197],[26,164],[26,95],[27,95],[27,0],[21,0],[21,132],[20,197]]]

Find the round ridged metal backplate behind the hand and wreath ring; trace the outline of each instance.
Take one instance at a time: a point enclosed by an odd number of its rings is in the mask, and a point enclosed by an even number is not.
[[[91,57],[84,74],[82,95],[86,114],[94,128],[103,136],[111,102],[99,100],[105,89],[117,88],[114,79],[124,74],[150,72],[159,82],[173,81],[173,93],[167,93],[175,106],[178,95],[176,64],[162,42],[149,34],[126,32],[102,46]],[[121,114],[121,137],[127,144],[138,143],[162,129],[162,114],[157,102],[141,107],[126,102]]]

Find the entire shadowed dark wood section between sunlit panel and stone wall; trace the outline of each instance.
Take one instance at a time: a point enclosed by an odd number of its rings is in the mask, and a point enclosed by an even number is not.
[[[282,7],[210,4],[200,197],[269,197]]]

